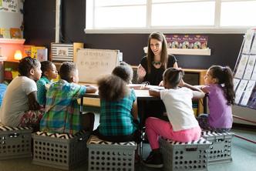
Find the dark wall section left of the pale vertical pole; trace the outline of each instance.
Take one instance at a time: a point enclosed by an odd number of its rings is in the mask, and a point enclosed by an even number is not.
[[[25,44],[45,45],[49,48],[51,42],[55,41],[55,15],[55,0],[25,0]]]

